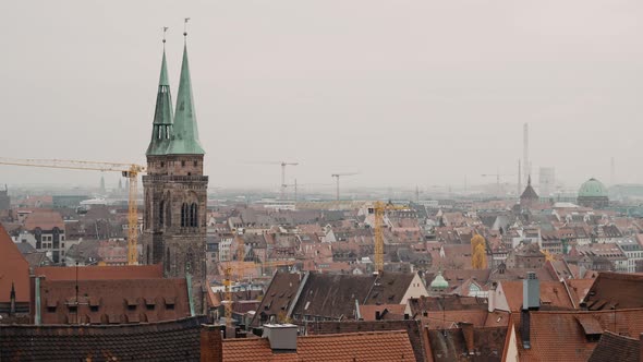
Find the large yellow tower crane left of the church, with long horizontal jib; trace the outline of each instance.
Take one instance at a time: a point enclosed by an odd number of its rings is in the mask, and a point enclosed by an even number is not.
[[[130,180],[130,196],[128,201],[128,264],[135,265],[138,263],[138,253],[136,252],[138,240],[136,194],[138,191],[138,173],[145,172],[144,166],[136,164],[33,158],[0,158],[0,165],[121,172],[123,177]]]

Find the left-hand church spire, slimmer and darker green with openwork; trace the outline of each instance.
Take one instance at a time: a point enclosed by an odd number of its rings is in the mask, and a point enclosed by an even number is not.
[[[151,141],[149,141],[149,146],[145,153],[147,156],[165,155],[172,135],[172,96],[170,95],[170,82],[168,81],[165,41],[163,39],[163,60],[158,81],[158,93],[156,94]]]

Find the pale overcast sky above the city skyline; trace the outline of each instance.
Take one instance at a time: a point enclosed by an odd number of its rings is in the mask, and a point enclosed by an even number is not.
[[[1,1],[0,156],[144,162],[161,58],[182,22],[210,186],[643,182],[643,2]],[[0,183],[98,182],[0,168]],[[116,176],[110,177],[116,180]],[[109,179],[109,178],[107,178]],[[508,178],[507,181],[514,181]],[[116,182],[116,181],[114,181]]]

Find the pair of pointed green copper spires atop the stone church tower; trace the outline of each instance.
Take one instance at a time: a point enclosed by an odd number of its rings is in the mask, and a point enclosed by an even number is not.
[[[186,36],[186,33],[183,33]],[[196,112],[192,97],[192,81],[187,61],[187,44],[183,47],[183,62],[179,81],[175,112],[172,110],[172,96],[168,77],[166,49],[163,38],[163,56],[156,95],[153,132],[147,156],[163,155],[204,155],[205,152],[198,140]]]

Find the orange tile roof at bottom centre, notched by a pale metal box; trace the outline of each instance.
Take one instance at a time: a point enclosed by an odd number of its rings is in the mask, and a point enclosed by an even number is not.
[[[223,361],[412,361],[415,357],[405,330],[367,331],[298,337],[296,352],[274,353],[268,339],[226,339]]]

